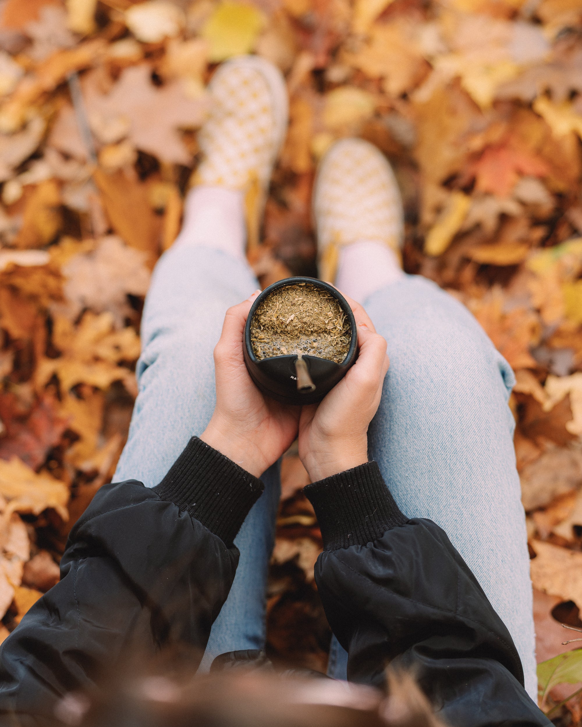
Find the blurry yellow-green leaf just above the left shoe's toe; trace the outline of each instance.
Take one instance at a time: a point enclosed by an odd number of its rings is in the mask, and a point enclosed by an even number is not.
[[[218,63],[234,55],[250,53],[255,47],[266,18],[252,5],[225,0],[202,28],[202,38],[210,44],[210,61]]]

